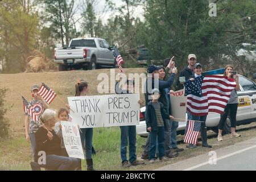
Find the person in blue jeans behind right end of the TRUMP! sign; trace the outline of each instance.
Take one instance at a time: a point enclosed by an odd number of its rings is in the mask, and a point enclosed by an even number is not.
[[[119,78],[115,84],[115,93],[117,94],[129,94],[129,90],[134,88],[134,80],[126,80],[124,88],[121,89],[120,86],[121,79]],[[138,101],[142,104],[142,101]],[[137,166],[139,164],[144,164],[144,162],[138,162],[136,155],[136,126],[120,126],[121,129],[121,145],[120,154],[122,159],[122,167]],[[129,162],[127,160],[127,146],[129,142]]]

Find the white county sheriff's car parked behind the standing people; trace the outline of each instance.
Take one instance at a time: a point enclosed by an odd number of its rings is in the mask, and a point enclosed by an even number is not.
[[[256,73],[254,74],[256,79]],[[256,84],[248,78],[239,75],[240,91],[238,94],[238,109],[237,109],[237,125],[244,125],[256,121]],[[136,126],[137,134],[141,137],[147,137],[146,122],[144,112],[146,107],[141,108],[140,122]],[[218,133],[218,123],[220,122],[220,114],[209,113],[207,116],[206,126],[208,129]],[[186,122],[179,122],[177,134],[184,134]],[[223,130],[224,134],[230,133],[230,117],[226,119]]]

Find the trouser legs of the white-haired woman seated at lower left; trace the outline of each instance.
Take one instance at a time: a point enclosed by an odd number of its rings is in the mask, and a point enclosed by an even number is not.
[[[49,170],[73,171],[79,167],[79,159],[59,155],[47,155],[46,164],[42,166]]]

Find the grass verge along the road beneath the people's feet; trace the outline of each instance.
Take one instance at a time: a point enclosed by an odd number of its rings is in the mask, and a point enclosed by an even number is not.
[[[107,128],[97,128],[93,129],[93,146],[96,150],[96,155],[93,155],[94,168],[97,170],[153,170],[166,166],[168,164],[173,164],[179,162],[180,160],[185,160],[188,158],[195,157],[197,155],[204,154],[209,151],[217,150],[218,148],[223,148],[230,146],[232,144],[254,138],[256,136],[256,122],[250,123],[249,125],[241,125],[237,127],[238,133],[242,137],[230,138],[230,135],[224,135],[223,142],[217,142],[217,134],[213,131],[208,131],[208,143],[213,146],[213,148],[203,148],[198,146],[195,149],[185,148],[185,144],[182,142],[183,135],[178,135],[177,139],[179,141],[179,148],[184,148],[183,152],[179,153],[174,159],[167,159],[160,163],[156,160],[155,163],[149,163],[148,160],[143,160],[146,162],[145,165],[132,166],[130,168],[122,168],[121,158],[120,158],[120,129],[119,127],[107,127]],[[137,159],[143,152],[141,147],[146,142],[145,138],[141,138],[137,135]],[[200,142],[200,139],[199,139]],[[0,169],[2,170],[31,170],[31,147],[25,138],[18,137],[14,139],[6,139],[0,141]],[[128,148],[127,148],[128,151]],[[129,155],[127,154],[129,159]],[[82,160],[82,170],[86,170],[86,162]]]

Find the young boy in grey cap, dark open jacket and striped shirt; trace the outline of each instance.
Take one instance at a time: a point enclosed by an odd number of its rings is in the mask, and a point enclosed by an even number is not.
[[[163,109],[163,104],[158,101],[160,97],[159,89],[153,89],[151,93],[152,101],[147,104],[146,125],[150,132],[150,162],[155,162],[156,138],[158,138],[159,161],[164,158],[164,119],[173,119],[167,111]]]

